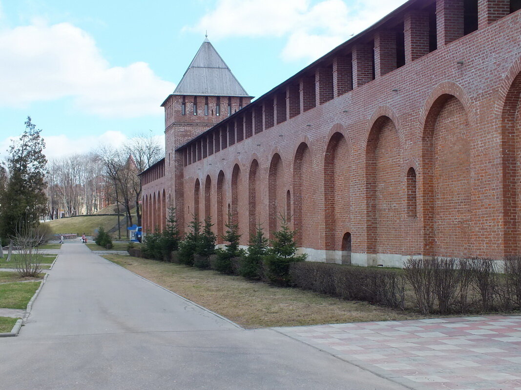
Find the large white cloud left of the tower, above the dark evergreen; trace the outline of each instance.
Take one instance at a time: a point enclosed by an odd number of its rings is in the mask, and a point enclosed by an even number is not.
[[[0,30],[0,105],[72,97],[84,112],[114,118],[160,114],[174,84],[145,62],[111,67],[85,31],[70,23]]]

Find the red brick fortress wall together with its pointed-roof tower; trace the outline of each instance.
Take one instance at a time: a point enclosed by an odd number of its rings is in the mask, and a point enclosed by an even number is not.
[[[521,253],[520,8],[411,0],[252,103],[205,40],[163,103],[144,230],[172,204],[244,244],[284,216],[314,261]]]

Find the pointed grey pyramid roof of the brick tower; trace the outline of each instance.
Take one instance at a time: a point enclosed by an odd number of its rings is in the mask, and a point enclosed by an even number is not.
[[[208,37],[184,72],[173,95],[250,97]]]

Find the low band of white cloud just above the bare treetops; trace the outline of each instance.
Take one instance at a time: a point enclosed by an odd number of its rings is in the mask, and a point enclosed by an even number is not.
[[[42,136],[45,140],[44,154],[47,160],[66,157],[71,154],[88,153],[100,146],[119,148],[129,140],[129,137],[117,131],[107,131],[95,137],[88,135],[70,138],[64,134]],[[7,157],[6,150],[9,149],[11,141],[17,139],[18,137],[8,137],[4,140],[0,140],[0,160],[4,160]],[[164,135],[156,135],[154,139],[164,148]]]

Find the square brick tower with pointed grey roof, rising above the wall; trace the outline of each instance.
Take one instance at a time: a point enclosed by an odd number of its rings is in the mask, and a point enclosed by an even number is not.
[[[206,37],[187,71],[161,105],[165,108],[165,168],[169,203],[183,218],[183,157],[176,149],[248,105],[247,94],[226,62]]]

